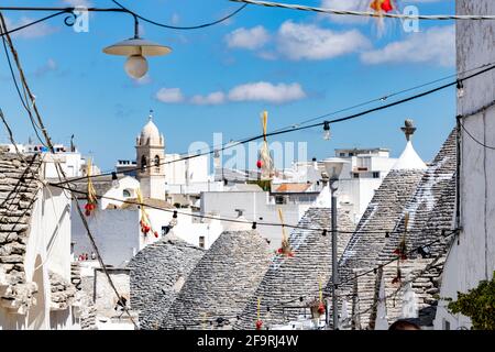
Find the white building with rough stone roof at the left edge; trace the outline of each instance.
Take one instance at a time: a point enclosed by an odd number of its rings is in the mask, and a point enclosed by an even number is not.
[[[38,180],[41,155],[23,157],[0,153],[0,330],[77,329],[70,199]]]

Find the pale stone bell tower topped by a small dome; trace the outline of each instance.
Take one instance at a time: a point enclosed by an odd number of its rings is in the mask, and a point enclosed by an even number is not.
[[[136,138],[135,151],[143,197],[165,199],[165,139],[153,122],[153,110]]]

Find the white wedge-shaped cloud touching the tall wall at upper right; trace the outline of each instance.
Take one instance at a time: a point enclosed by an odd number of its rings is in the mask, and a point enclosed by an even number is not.
[[[426,32],[410,33],[402,42],[364,52],[361,61],[365,64],[386,63],[432,63],[453,66],[455,63],[455,29],[453,25],[436,26]]]

